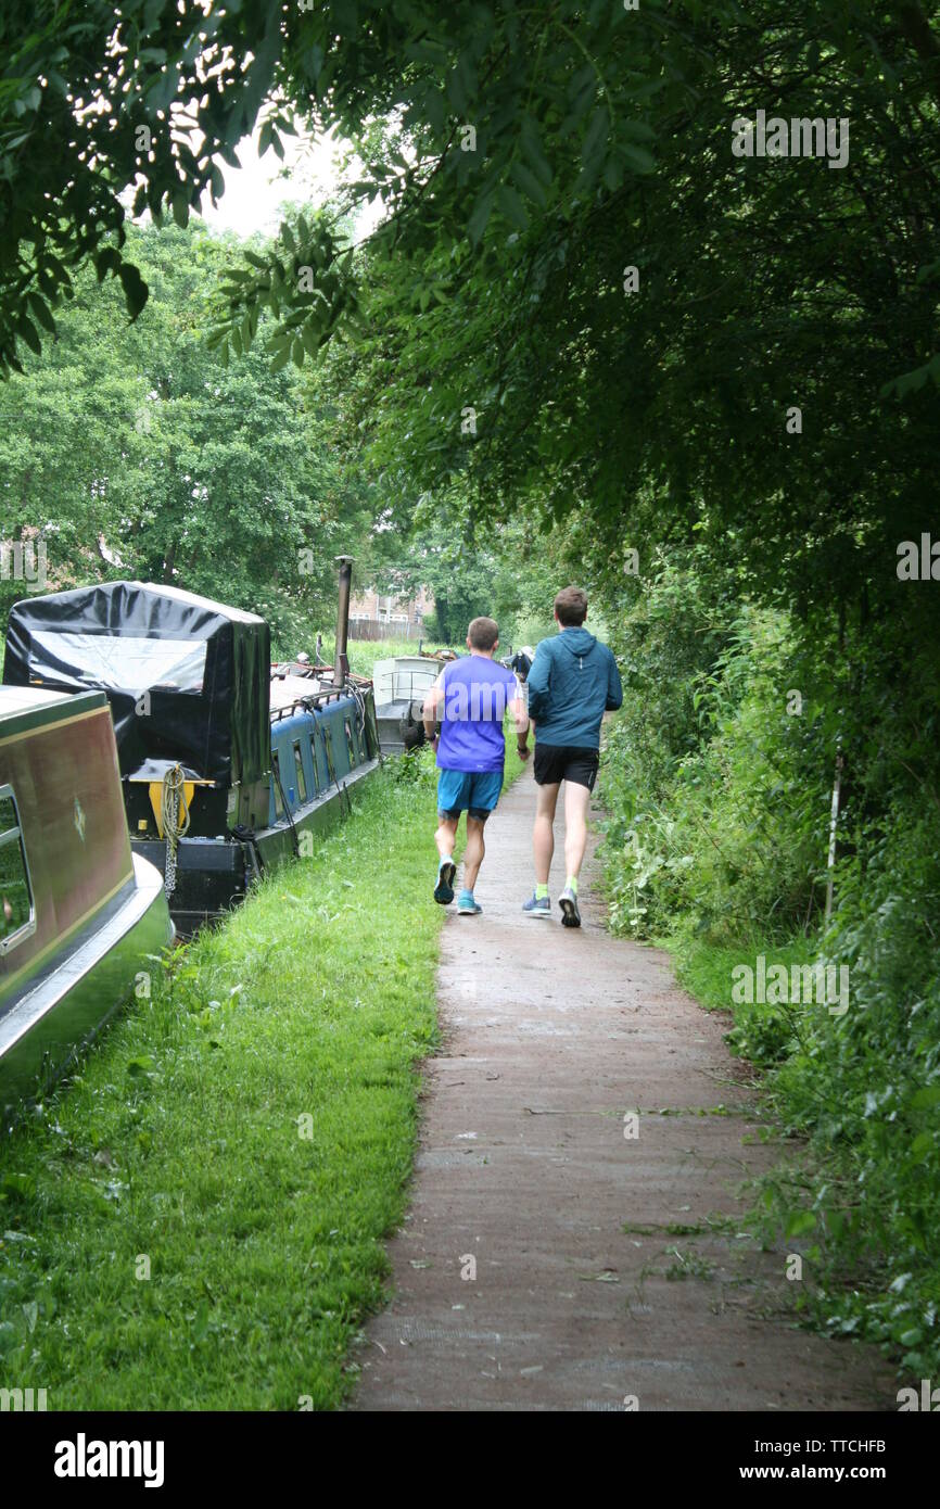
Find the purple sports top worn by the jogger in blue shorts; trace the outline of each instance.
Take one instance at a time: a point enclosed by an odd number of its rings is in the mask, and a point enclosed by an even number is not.
[[[519,696],[511,670],[486,655],[465,655],[444,667],[442,685],[438,767],[474,774],[502,770],[502,718]]]

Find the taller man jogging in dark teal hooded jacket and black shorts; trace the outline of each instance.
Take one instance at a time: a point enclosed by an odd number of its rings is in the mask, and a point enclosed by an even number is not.
[[[587,596],[564,587],[555,598],[555,638],[542,640],[528,673],[528,711],[536,727],[537,785],[533,850],[536,890],[524,902],[531,917],[551,916],[548,874],[555,850],[555,804],[564,782],[566,886],[558,898],[564,927],[581,927],[578,875],[587,845],[587,809],[597,777],[601,720],[623,702],[617,662],[584,628]]]

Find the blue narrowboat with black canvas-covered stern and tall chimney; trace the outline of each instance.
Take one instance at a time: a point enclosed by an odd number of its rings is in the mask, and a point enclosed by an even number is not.
[[[379,764],[370,681],[272,665],[264,619],[178,587],[113,581],[14,604],[8,685],[104,691],[134,854],[163,875],[181,934],[222,916],[264,871],[312,853]]]

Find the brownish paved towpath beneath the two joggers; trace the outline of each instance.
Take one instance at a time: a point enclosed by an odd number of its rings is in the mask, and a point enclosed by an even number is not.
[[[765,1319],[791,1289],[783,1251],[709,1227],[774,1156],[744,1141],[759,1121],[727,1020],[604,931],[596,862],[579,933],[555,874],[554,919],[521,913],[533,801],[527,771],[487,824],[483,916],[447,919],[445,1044],[355,1408],[896,1408],[872,1352]]]

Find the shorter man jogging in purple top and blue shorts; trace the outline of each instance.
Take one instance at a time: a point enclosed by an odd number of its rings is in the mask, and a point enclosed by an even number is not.
[[[474,896],[474,886],[486,853],[483,825],[502,791],[502,718],[507,711],[516,720],[519,754],[528,759],[525,697],[511,670],[493,659],[498,644],[499,629],[493,620],[474,619],[466,634],[469,655],[444,667],[424,702],[424,730],[438,751],[441,773],[435,834],[441,856],[435,901],[441,905],[454,899],[454,842],[460,813],[466,812],[463,890],[457,898],[460,916],[475,916],[483,910]]]

